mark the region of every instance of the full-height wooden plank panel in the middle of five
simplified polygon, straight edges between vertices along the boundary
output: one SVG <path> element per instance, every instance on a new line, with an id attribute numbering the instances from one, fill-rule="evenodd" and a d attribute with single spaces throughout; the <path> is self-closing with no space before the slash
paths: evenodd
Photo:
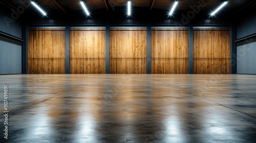
<path id="1" fill-rule="evenodd" d="M 146 74 L 146 29 L 111 28 L 110 74 Z"/>

